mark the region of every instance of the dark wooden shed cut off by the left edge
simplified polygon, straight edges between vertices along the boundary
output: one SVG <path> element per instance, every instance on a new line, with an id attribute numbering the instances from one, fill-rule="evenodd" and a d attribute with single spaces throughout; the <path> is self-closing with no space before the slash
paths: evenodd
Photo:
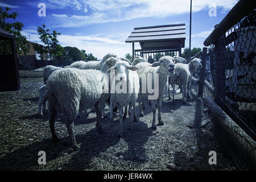
<path id="1" fill-rule="evenodd" d="M 20 89 L 15 37 L 0 28 L 0 92 Z"/>

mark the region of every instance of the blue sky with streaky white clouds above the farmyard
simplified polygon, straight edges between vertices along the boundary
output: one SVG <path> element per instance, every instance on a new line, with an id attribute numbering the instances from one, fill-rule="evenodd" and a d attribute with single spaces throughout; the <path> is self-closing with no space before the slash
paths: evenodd
<path id="1" fill-rule="evenodd" d="M 203 48 L 214 25 L 228 14 L 238 0 L 193 0 L 191 47 Z M 46 16 L 38 11 L 44 3 Z M 134 27 L 185 23 L 185 47 L 189 47 L 189 0 L 0 0 L 18 12 L 16 20 L 24 24 L 22 34 L 31 42 L 41 43 L 36 28 L 46 24 L 56 30 L 60 45 L 85 49 L 98 59 L 113 52 L 125 56 L 132 52 L 125 40 Z M 42 12 L 42 11 L 40 11 Z M 135 43 L 135 49 L 141 48 Z M 183 49 L 182 49 L 183 50 Z"/>

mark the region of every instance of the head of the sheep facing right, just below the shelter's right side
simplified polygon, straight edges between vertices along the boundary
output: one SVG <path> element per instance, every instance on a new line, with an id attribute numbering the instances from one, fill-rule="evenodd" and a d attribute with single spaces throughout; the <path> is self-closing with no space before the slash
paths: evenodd
<path id="1" fill-rule="evenodd" d="M 155 62 L 151 65 L 151 67 L 158 67 L 165 69 L 169 75 L 174 74 L 175 64 L 174 64 L 174 57 L 171 56 L 163 56 L 159 59 L 158 62 Z"/>

